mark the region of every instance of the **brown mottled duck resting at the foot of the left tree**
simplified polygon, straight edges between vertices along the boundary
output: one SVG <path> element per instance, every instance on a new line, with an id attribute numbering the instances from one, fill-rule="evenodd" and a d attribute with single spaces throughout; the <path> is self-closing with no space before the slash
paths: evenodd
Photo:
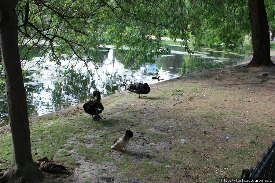
<path id="1" fill-rule="evenodd" d="M 37 161 L 41 162 L 40 169 L 47 171 L 47 172 L 64 172 L 64 173 L 70 173 L 69 170 L 67 170 L 68 167 L 65 167 L 64 165 L 54 161 L 49 160 L 47 157 L 43 157 L 41 159 L 38 159 Z"/>

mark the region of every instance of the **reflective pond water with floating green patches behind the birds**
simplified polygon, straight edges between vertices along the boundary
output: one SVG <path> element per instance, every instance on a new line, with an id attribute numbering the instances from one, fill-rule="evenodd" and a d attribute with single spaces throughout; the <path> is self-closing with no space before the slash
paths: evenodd
<path id="1" fill-rule="evenodd" d="M 173 41 L 166 41 L 171 54 L 156 57 L 156 63 L 146 64 L 135 70 L 125 66 L 123 55 L 119 54 L 112 46 L 100 56 L 101 68 L 93 78 L 87 74 L 83 63 L 78 63 L 77 73 L 68 74 L 67 77 L 60 77 L 71 63 L 68 60 L 61 62 L 61 66 L 51 66 L 49 60 L 45 60 L 44 66 L 48 70 L 40 70 L 35 66 L 29 70 L 29 75 L 24 79 L 29 117 L 40 116 L 46 113 L 59 111 L 69 106 L 84 103 L 92 98 L 92 92 L 99 90 L 101 96 L 112 95 L 124 91 L 130 83 L 142 82 L 153 84 L 165 81 L 174 77 L 199 72 L 213 68 L 213 66 L 228 66 L 245 62 L 251 59 L 248 54 L 240 54 L 224 51 L 221 47 L 215 48 L 190 48 L 194 54 L 190 57 L 185 48 Z M 40 57 L 33 54 L 31 63 L 24 66 L 31 66 L 38 62 Z M 98 58 L 97 58 L 98 59 Z M 64 66 L 64 67 L 63 67 Z M 40 73 L 39 74 L 39 70 Z M 158 72 L 158 74 L 153 74 Z M 151 75 L 151 74 L 152 75 Z M 163 80 L 152 80 L 152 76 L 160 76 Z M 0 127 L 8 124 L 7 105 L 5 99 L 0 99 Z"/>

